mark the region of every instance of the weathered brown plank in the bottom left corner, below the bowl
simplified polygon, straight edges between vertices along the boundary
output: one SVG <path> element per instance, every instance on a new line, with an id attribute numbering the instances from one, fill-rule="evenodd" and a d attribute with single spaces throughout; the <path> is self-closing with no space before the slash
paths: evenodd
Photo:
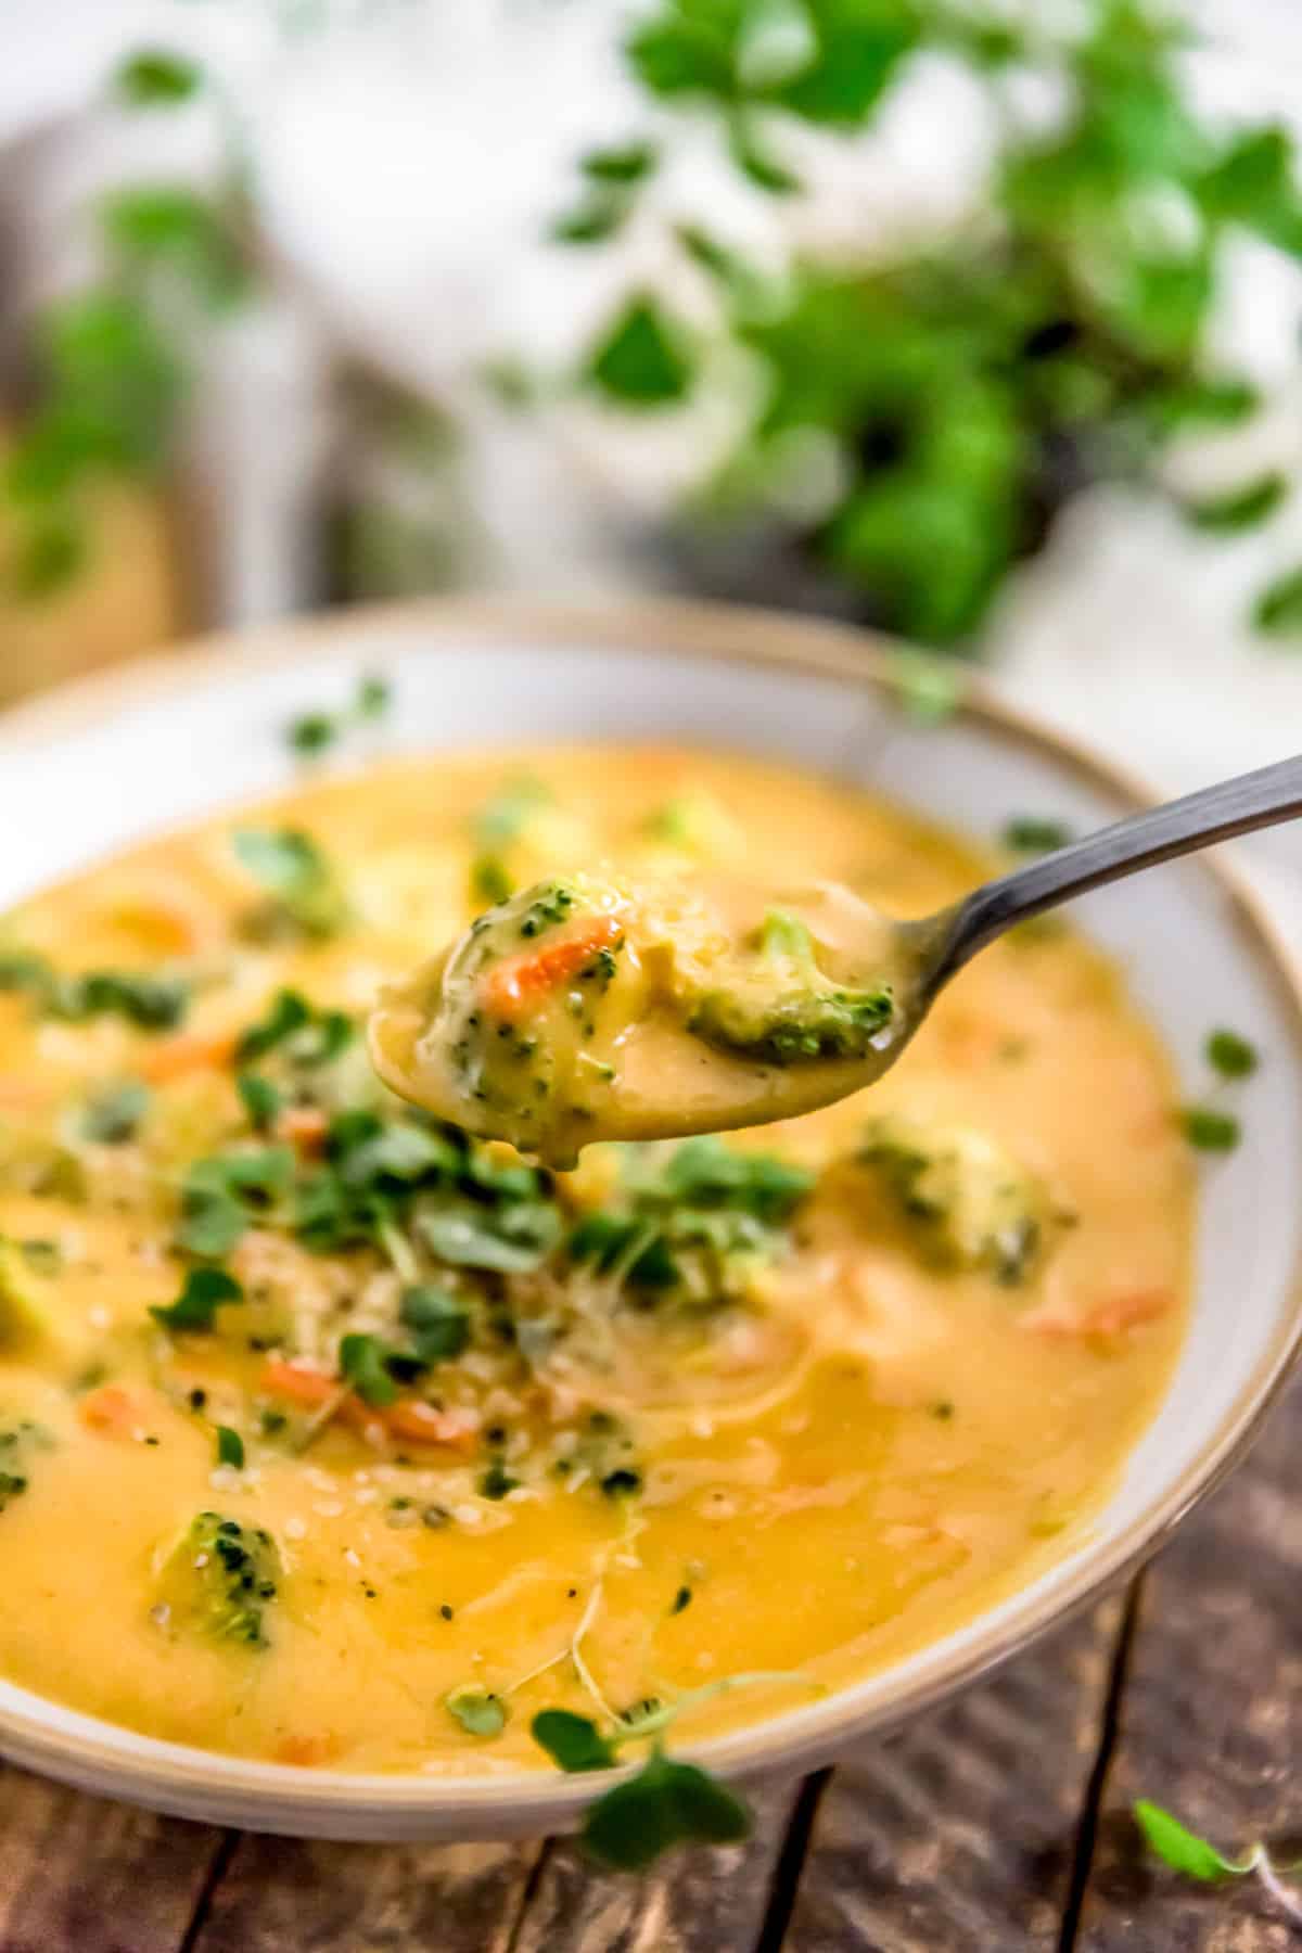
<path id="1" fill-rule="evenodd" d="M 0 1953 L 176 1953 L 223 1838 L 0 1766 Z"/>

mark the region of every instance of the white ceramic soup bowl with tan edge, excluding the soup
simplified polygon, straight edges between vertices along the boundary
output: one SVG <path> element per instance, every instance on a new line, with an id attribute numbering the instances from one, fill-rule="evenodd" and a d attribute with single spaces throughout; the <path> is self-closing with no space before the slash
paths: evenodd
<path id="1" fill-rule="evenodd" d="M 197 644 L 0 721 L 0 904 L 158 828 L 289 783 L 285 723 L 394 689 L 385 750 L 673 740 L 785 760 L 994 838 L 1019 810 L 1074 828 L 1150 795 L 1007 711 L 978 680 L 925 725 L 902 709 L 898 652 L 837 625 L 677 603 L 613 613 L 504 603 L 355 611 Z M 1161 1029 L 1191 1098 L 1202 1043 L 1232 1021 L 1263 1053 L 1241 1088 L 1243 1143 L 1202 1172 L 1189 1332 L 1165 1396 L 1093 1523 L 1017 1592 L 832 1695 L 687 1746 L 748 1781 L 794 1773 L 962 1687 L 1117 1584 L 1249 1441 L 1302 1338 L 1302 1012 L 1288 961 L 1220 857 L 1078 904 Z M 361 1775 L 160 1742 L 0 1682 L 0 1752 L 158 1810 L 303 1836 L 486 1838 L 572 1826 L 591 1781 Z"/>

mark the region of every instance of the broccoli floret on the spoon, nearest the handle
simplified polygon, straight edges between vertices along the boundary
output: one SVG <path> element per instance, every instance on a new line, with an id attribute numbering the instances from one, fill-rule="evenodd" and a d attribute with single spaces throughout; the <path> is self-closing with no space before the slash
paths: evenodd
<path id="1" fill-rule="evenodd" d="M 810 1059 L 865 1059 L 894 1016 L 890 990 L 789 990 L 759 986 L 711 990 L 687 1029 L 740 1059 L 806 1064 Z"/>

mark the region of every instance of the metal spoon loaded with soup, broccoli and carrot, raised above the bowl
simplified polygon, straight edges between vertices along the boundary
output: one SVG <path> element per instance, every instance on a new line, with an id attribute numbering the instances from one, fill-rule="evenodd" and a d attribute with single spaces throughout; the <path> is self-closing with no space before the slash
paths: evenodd
<path id="1" fill-rule="evenodd" d="M 873 1084 L 980 949 L 1046 908 L 1302 812 L 1302 756 L 1130 814 L 894 922 L 834 883 L 527 889 L 387 990 L 394 1092 L 552 1166 L 605 1139 L 765 1125 Z M 775 906 L 777 902 L 777 906 Z"/>

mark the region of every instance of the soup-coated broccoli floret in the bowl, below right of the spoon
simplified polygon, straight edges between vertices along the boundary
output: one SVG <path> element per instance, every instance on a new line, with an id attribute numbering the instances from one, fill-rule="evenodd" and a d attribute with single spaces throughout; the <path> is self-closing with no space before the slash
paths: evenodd
<path id="1" fill-rule="evenodd" d="M 974 1127 L 875 1119 L 855 1158 L 878 1176 L 929 1262 L 988 1269 L 1009 1289 L 1031 1279 L 1064 1219 L 1044 1182 Z"/>

